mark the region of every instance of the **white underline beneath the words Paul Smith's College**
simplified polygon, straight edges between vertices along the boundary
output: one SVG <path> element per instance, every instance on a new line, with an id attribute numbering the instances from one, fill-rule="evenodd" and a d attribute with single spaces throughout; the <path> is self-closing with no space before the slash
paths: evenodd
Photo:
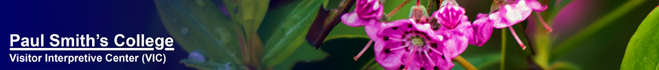
<path id="1" fill-rule="evenodd" d="M 154 48 L 9 48 L 9 51 L 154 51 Z M 174 51 L 174 48 L 165 48 L 165 51 Z"/>

